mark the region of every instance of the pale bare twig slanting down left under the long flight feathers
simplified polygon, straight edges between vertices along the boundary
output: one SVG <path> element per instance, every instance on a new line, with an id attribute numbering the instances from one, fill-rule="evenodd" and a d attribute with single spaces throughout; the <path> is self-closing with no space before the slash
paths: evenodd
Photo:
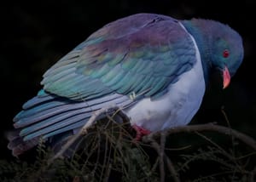
<path id="1" fill-rule="evenodd" d="M 102 107 L 102 109 L 97 110 L 93 113 L 93 115 L 91 115 L 90 119 L 88 120 L 88 122 L 86 122 L 84 124 L 84 127 L 81 128 L 79 130 L 78 134 L 73 135 L 73 137 L 69 140 L 67 140 L 67 143 L 65 145 L 63 145 L 63 147 L 61 148 L 61 151 L 58 151 L 55 156 L 51 157 L 48 161 L 48 164 L 51 164 L 56 158 L 59 158 L 63 155 L 63 153 L 65 151 L 67 151 L 67 149 L 73 145 L 73 143 L 79 139 L 80 136 L 87 134 L 87 129 L 90 128 L 90 126 L 96 122 L 96 120 L 101 117 L 102 115 L 106 115 L 106 113 L 108 113 L 109 111 L 118 111 L 119 107 L 116 105 L 109 105 L 107 107 Z"/>

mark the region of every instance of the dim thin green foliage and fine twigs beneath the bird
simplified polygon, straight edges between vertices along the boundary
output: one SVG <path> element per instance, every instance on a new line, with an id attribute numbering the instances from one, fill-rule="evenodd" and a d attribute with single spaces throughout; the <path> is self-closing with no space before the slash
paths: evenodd
<path id="1" fill-rule="evenodd" d="M 56 159 L 49 164 L 53 151 L 46 148 L 42 140 L 34 162 L 0 161 L 0 181 L 180 179 L 202 182 L 253 181 L 255 178 L 256 151 L 231 135 L 213 132 L 169 134 L 163 160 L 160 160 L 155 145 L 134 141 L 134 137 L 135 132 L 129 123 L 102 120 L 77 140 L 75 147 L 68 151 L 73 153 L 70 157 Z M 159 137 L 154 138 L 161 146 Z M 177 179 L 173 177 L 170 163 Z"/>

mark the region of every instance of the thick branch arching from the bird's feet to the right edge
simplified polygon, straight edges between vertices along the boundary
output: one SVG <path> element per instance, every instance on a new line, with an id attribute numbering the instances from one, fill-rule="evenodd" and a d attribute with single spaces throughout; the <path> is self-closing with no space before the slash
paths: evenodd
<path id="1" fill-rule="evenodd" d="M 170 128 L 166 130 L 166 135 L 169 134 L 177 134 L 177 133 L 193 133 L 193 132 L 201 132 L 201 131 L 213 131 L 218 132 L 220 134 L 228 134 L 240 139 L 243 143 L 251 146 L 254 150 L 256 150 L 256 140 L 247 136 L 246 134 L 242 134 L 241 132 L 236 131 L 232 128 L 227 128 L 224 126 L 218 126 L 213 123 L 207 124 L 199 124 L 199 125 L 188 125 L 183 127 Z M 152 139 L 160 137 L 161 132 L 155 132 L 152 134 L 148 134 L 147 136 L 143 136 L 144 142 L 150 142 Z"/>

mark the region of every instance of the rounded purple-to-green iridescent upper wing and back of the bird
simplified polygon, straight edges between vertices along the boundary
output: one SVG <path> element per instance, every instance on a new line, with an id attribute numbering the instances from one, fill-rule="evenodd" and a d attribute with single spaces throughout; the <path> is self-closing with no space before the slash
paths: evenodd
<path id="1" fill-rule="evenodd" d="M 88 37 L 44 74 L 44 89 L 72 100 L 107 94 L 158 97 L 195 63 L 195 46 L 177 20 L 136 14 Z"/>

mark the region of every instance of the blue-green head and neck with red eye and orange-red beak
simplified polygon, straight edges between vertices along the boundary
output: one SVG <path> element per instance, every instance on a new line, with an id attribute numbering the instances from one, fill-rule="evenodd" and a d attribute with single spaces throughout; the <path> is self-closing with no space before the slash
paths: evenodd
<path id="1" fill-rule="evenodd" d="M 223 88 L 227 88 L 243 60 L 241 36 L 214 20 L 193 19 L 185 25 L 198 44 L 205 75 L 217 69 L 223 77 Z"/>

